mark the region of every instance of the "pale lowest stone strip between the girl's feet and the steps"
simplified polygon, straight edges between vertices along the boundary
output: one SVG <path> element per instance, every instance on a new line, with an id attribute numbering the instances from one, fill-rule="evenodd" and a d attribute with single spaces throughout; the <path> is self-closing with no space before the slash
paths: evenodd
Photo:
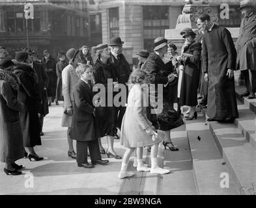
<path id="1" fill-rule="evenodd" d="M 163 175 L 163 195 L 196 195 L 193 165 L 186 127 L 171 130 L 171 141 L 178 151 L 164 150 L 164 166 L 171 174 Z"/>

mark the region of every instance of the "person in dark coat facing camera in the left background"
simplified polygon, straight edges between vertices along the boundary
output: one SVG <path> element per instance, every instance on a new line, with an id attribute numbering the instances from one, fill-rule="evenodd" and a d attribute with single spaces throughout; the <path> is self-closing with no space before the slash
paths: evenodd
<path id="1" fill-rule="evenodd" d="M 48 105 L 51 105 L 53 98 L 55 97 L 56 93 L 56 85 L 57 85 L 57 74 L 56 74 L 56 60 L 51 57 L 50 51 L 48 49 L 44 50 L 44 57 L 42 59 L 42 64 L 46 69 L 46 73 L 49 77 L 49 85 L 47 88 L 47 95 L 48 95 Z"/>

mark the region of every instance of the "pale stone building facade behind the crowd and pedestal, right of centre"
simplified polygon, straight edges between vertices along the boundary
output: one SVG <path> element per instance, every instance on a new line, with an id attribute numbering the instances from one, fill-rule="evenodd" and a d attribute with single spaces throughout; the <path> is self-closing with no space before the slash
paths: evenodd
<path id="1" fill-rule="evenodd" d="M 154 38 L 165 36 L 165 30 L 175 29 L 185 3 L 180 0 L 102 0 L 102 42 L 107 43 L 112 36 L 120 36 L 124 41 L 124 48 L 132 47 L 130 53 L 135 64 L 137 51 L 152 51 Z M 229 5 L 229 19 L 220 18 L 222 3 Z M 211 16 L 218 24 L 240 27 L 240 0 L 209 0 L 208 4 Z"/>

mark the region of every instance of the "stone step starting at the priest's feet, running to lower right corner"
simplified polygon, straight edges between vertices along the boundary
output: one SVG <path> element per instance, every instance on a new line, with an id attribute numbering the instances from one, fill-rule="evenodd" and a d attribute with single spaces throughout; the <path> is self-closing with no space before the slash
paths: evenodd
<path id="1" fill-rule="evenodd" d="M 255 194 L 256 152 L 234 123 L 208 122 L 240 194 Z M 230 175 L 230 176 L 231 176 Z"/>

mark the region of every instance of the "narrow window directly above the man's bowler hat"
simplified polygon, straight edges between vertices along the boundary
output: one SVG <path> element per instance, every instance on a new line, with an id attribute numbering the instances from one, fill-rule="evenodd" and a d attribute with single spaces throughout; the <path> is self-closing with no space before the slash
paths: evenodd
<path id="1" fill-rule="evenodd" d="M 119 36 L 119 8 L 109 8 L 109 38 Z"/>

